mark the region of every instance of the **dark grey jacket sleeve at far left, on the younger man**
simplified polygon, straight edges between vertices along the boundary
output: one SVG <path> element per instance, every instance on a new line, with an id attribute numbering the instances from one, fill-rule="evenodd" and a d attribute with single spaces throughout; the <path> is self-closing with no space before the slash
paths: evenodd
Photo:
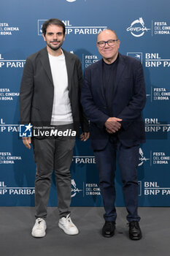
<path id="1" fill-rule="evenodd" d="M 31 102 L 34 92 L 33 67 L 29 59 L 23 69 L 23 78 L 20 84 L 20 123 L 31 122 Z"/>

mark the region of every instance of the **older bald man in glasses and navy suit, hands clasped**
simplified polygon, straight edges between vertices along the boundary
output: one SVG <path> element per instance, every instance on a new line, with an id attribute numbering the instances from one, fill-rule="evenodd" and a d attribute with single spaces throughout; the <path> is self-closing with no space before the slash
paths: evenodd
<path id="1" fill-rule="evenodd" d="M 91 146 L 99 170 L 104 203 L 104 237 L 115 233 L 116 157 L 128 211 L 129 237 L 142 238 L 139 227 L 137 167 L 139 143 L 144 143 L 142 110 L 146 102 L 142 64 L 118 52 L 120 40 L 112 29 L 101 31 L 97 48 L 102 59 L 85 69 L 82 107 L 90 119 Z"/>

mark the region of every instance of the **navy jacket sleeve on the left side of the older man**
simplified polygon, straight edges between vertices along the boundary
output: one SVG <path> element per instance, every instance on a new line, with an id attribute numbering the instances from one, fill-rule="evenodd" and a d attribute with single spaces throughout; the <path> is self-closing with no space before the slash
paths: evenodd
<path id="1" fill-rule="evenodd" d="M 103 129 L 104 124 L 109 118 L 109 116 L 107 116 L 105 113 L 99 110 L 98 107 L 96 107 L 95 102 L 93 101 L 93 94 L 91 91 L 90 69 L 85 69 L 81 102 L 85 114 L 88 116 L 89 120 L 95 123 L 101 129 Z"/>

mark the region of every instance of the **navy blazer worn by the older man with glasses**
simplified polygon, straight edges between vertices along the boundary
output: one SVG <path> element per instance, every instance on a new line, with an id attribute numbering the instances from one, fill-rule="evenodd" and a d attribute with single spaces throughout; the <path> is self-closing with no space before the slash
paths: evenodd
<path id="1" fill-rule="evenodd" d="M 81 96 L 85 115 L 90 120 L 91 146 L 101 150 L 107 145 L 109 133 L 104 124 L 110 116 L 123 119 L 117 138 L 124 146 L 145 142 L 142 109 L 146 102 L 146 91 L 142 64 L 139 60 L 119 53 L 117 75 L 109 105 L 104 95 L 102 82 L 102 59 L 85 69 Z"/>

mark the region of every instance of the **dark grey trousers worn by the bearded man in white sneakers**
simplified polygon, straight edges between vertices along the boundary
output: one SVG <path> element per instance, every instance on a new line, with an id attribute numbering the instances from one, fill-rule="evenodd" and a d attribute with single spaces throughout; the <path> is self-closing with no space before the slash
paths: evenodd
<path id="1" fill-rule="evenodd" d="M 65 126 L 71 129 L 73 125 Z M 58 130 L 63 130 L 59 127 Z M 55 172 L 55 184 L 58 193 L 58 211 L 60 218 L 69 214 L 71 203 L 71 173 L 75 138 L 55 137 L 33 140 L 34 159 L 36 162 L 35 208 L 36 217 L 47 217 L 51 176 Z"/>

